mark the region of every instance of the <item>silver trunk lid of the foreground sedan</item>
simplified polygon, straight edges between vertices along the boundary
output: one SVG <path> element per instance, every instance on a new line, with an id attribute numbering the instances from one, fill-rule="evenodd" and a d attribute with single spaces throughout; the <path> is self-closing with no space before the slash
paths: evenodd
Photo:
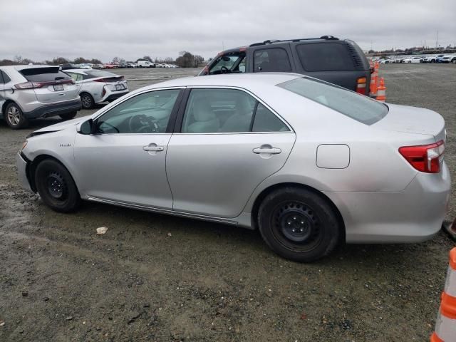
<path id="1" fill-rule="evenodd" d="M 433 110 L 389 103 L 388 108 L 385 118 L 372 127 L 395 132 L 433 135 L 437 141 L 445 139 L 445 120 Z"/>

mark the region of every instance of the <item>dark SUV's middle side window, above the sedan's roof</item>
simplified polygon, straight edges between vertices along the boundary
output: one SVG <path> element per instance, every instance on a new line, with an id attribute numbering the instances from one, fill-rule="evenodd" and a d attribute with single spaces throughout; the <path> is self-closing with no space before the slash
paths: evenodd
<path id="1" fill-rule="evenodd" d="M 284 48 L 261 48 L 254 51 L 254 72 L 291 71 L 290 59 Z"/>

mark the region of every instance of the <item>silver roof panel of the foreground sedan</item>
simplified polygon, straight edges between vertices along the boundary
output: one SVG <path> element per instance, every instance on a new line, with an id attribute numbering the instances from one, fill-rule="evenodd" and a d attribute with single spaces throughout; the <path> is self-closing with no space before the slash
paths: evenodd
<path id="1" fill-rule="evenodd" d="M 253 86 L 254 84 L 275 86 L 276 84 L 304 77 L 298 73 L 232 73 L 202 77 L 185 77 L 155 83 L 142 89 L 191 86 Z"/>

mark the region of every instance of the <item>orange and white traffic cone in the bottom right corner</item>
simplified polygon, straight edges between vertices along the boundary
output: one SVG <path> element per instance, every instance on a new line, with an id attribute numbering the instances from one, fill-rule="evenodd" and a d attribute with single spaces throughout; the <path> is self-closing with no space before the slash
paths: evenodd
<path id="1" fill-rule="evenodd" d="M 456 247 L 450 251 L 445 289 L 430 342 L 456 341 Z"/>

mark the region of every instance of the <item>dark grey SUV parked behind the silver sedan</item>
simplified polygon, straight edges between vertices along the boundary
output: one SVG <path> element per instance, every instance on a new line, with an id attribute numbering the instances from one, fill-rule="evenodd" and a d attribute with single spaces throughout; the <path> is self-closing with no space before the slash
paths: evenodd
<path id="1" fill-rule="evenodd" d="M 369 95 L 371 68 L 361 48 L 333 36 L 264 41 L 222 51 L 198 76 L 219 73 L 301 73 Z"/>

